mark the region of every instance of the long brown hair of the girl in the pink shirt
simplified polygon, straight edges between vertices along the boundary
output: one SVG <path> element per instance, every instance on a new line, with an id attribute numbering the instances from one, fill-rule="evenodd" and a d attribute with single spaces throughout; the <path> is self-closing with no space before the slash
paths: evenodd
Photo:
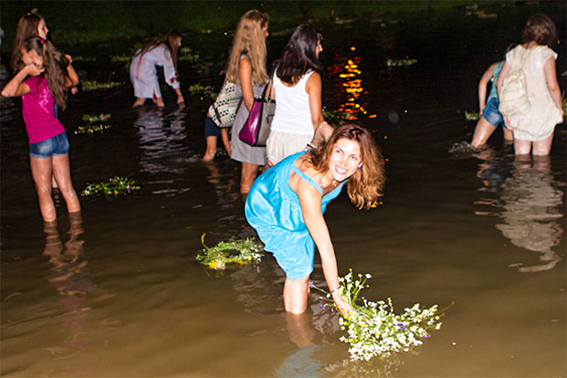
<path id="1" fill-rule="evenodd" d="M 41 75 L 43 75 L 44 79 L 47 79 L 49 91 L 58 107 L 65 110 L 67 106 L 65 77 L 67 76 L 67 66 L 69 64 L 68 59 L 47 39 L 37 36 L 27 37 L 22 48 L 26 52 L 34 50 L 42 58 L 42 67 L 45 68 L 45 71 Z"/>

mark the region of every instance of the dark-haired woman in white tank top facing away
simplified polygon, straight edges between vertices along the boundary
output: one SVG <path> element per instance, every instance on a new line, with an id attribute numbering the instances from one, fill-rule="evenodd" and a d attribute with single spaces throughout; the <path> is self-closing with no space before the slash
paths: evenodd
<path id="1" fill-rule="evenodd" d="M 276 63 L 272 90 L 276 114 L 266 143 L 270 164 L 304 150 L 324 121 L 319 62 L 322 39 L 313 26 L 299 25 Z"/>

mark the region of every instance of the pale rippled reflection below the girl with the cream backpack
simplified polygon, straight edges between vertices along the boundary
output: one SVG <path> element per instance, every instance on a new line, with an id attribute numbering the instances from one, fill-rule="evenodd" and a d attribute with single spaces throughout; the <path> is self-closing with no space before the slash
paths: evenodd
<path id="1" fill-rule="evenodd" d="M 478 175 L 485 184 L 481 190 L 498 193 L 499 198 L 483 199 L 478 204 L 492 205 L 501 211 L 477 214 L 502 217 L 503 222 L 496 228 L 503 236 L 517 247 L 541 253 L 541 264 L 524 267 L 523 263 L 518 263 L 510 267 L 518 268 L 520 272 L 554 268 L 561 261 L 552 247 L 562 240 L 563 229 L 557 219 L 563 216 L 563 192 L 557 188 L 551 174 L 549 156 L 534 158 L 533 162 L 517 158 L 508 178 L 501 162 L 485 161 L 479 167 Z"/>

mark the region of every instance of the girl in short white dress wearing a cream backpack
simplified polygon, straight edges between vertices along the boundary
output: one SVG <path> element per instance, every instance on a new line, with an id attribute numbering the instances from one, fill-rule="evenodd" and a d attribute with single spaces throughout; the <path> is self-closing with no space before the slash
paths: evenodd
<path id="1" fill-rule="evenodd" d="M 555 58 L 557 53 L 546 45 L 555 41 L 556 28 L 545 15 L 531 16 L 522 33 L 522 44 L 506 54 L 497 88 L 513 70 L 522 68 L 530 111 L 505 117 L 506 125 L 514 132 L 514 150 L 517 155 L 549 155 L 555 125 L 562 123 L 562 95 L 557 82 Z"/>

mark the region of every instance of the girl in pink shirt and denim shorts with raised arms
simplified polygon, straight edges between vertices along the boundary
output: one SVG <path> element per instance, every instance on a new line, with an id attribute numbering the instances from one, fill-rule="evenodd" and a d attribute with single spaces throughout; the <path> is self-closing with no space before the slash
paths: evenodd
<path id="1" fill-rule="evenodd" d="M 68 137 L 55 115 L 55 103 L 65 110 L 67 88 L 79 84 L 71 62 L 51 42 L 28 37 L 20 49 L 24 63 L 2 89 L 4 97 L 22 97 L 24 121 L 29 138 L 29 164 L 36 184 L 44 221 L 57 213 L 51 198 L 51 175 L 55 175 L 69 213 L 80 211 L 79 198 L 71 182 Z"/>

